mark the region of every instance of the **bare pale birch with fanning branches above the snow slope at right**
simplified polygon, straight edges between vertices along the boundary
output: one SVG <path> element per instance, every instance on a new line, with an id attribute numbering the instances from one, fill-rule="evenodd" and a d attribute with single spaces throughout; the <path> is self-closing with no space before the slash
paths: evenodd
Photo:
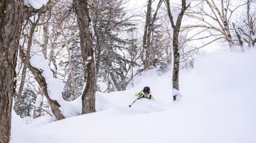
<path id="1" fill-rule="evenodd" d="M 236 26 L 236 24 L 232 24 L 233 22 L 235 22 L 232 22 L 232 16 L 239 8 L 245 6 L 250 2 L 247 1 L 246 3 L 242 3 L 237 6 L 232 6 L 231 0 L 203 0 L 196 2 L 198 2 L 198 4 L 193 9 L 189 9 L 187 15 L 192 18 L 192 21 L 198 20 L 200 24 L 188 24 L 182 26 L 182 28 L 200 28 L 200 33 L 208 31 L 209 36 L 200 38 L 205 39 L 209 37 L 214 37 L 214 39 L 207 44 L 210 44 L 217 40 L 224 40 L 228 43 L 228 46 L 231 50 L 233 50 L 233 48 L 237 45 L 240 45 L 241 47 L 242 41 L 236 44 L 236 39 L 234 38 L 238 36 L 239 39 L 239 31 L 237 30 L 237 28 L 239 27 Z M 232 35 L 232 32 L 234 33 L 234 35 Z"/>

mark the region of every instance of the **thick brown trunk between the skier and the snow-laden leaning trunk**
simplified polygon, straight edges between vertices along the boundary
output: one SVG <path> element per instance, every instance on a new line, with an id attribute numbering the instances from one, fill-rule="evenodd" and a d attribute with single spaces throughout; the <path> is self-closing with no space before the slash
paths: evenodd
<path id="1" fill-rule="evenodd" d="M 75 0 L 74 5 L 77 14 L 77 23 L 80 29 L 80 46 L 83 58 L 84 80 L 86 88 L 82 93 L 82 113 L 95 112 L 96 92 L 96 66 L 95 51 L 92 40 L 91 17 L 89 14 L 88 0 Z"/>

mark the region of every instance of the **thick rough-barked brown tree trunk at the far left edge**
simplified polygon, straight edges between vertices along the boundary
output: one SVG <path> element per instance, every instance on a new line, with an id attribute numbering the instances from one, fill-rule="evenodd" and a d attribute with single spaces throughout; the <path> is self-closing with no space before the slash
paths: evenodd
<path id="1" fill-rule="evenodd" d="M 0 1 L 0 142 L 8 143 L 24 1 Z"/>

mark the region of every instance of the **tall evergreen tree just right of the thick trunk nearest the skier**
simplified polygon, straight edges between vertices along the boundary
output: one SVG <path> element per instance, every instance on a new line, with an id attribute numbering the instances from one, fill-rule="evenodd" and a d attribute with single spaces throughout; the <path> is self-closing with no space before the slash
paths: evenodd
<path id="1" fill-rule="evenodd" d="M 104 0 L 94 5 L 96 9 L 92 19 L 98 81 L 107 84 L 108 92 L 125 90 L 127 73 L 131 69 L 128 50 L 133 40 L 125 36 L 135 30 L 135 24 L 126 17 L 122 1 Z"/>

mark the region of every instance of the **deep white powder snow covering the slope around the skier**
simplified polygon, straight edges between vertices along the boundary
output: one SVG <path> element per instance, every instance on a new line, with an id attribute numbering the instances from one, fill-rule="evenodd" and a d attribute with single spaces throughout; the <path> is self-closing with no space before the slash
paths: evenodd
<path id="1" fill-rule="evenodd" d="M 57 122 L 41 117 L 25 125 L 13 113 L 11 142 L 256 142 L 256 50 L 199 58 L 180 74 L 179 102 L 171 79 L 171 72 L 147 73 L 134 89 L 97 93 L 97 112 Z M 129 108 L 144 86 L 156 101 Z"/>

